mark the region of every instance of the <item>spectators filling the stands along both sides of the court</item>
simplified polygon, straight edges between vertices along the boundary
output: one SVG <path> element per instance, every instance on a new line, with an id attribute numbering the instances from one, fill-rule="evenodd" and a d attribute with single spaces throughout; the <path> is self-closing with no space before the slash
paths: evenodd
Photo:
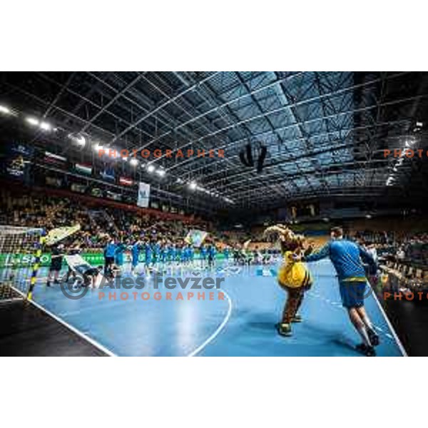
<path id="1" fill-rule="evenodd" d="M 263 235 L 262 226 L 218 231 L 218 228 L 193 218 L 167 220 L 156 213 L 100 207 L 75 198 L 29 191 L 17 195 L 6 188 L 1 189 L 0 198 L 3 207 L 0 224 L 51 230 L 79 223 L 81 230 L 73 235 L 73 245 L 85 250 L 103 251 L 112 239 L 125 245 L 148 241 L 183 246 L 183 239 L 193 228 L 209 231 L 208 243 L 217 245 L 220 250 L 235 250 L 235 258 L 241 262 L 243 254 L 238 254 L 238 250 L 245 241 L 252 240 L 248 245 L 252 260 L 265 260 L 274 246 L 271 238 Z M 428 233 L 362 230 L 350 231 L 349 235 L 372 250 L 376 257 L 422 269 L 428 266 Z"/>

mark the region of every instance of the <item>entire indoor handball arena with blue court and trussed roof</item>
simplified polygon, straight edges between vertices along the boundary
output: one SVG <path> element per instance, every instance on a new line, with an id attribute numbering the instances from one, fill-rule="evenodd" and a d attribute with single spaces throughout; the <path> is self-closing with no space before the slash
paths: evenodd
<path id="1" fill-rule="evenodd" d="M 0 73 L 0 355 L 428 355 L 428 73 Z"/>

